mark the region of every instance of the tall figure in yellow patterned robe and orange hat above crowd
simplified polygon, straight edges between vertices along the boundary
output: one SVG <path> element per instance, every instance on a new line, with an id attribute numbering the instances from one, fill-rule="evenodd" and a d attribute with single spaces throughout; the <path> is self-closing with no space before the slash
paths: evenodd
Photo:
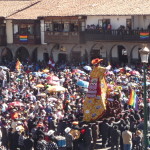
<path id="1" fill-rule="evenodd" d="M 105 81 L 105 72 L 111 66 L 101 67 L 99 64 L 102 60 L 96 58 L 91 62 L 94 67 L 90 73 L 88 92 L 83 104 L 83 120 L 87 122 L 99 119 L 106 111 L 107 84 Z"/>

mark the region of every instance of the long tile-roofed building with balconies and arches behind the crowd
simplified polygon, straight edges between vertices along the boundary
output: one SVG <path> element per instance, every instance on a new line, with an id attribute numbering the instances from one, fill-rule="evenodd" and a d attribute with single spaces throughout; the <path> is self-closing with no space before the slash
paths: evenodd
<path id="1" fill-rule="evenodd" d="M 147 0 L 16 3 L 16 10 L 2 15 L 1 60 L 48 61 L 53 57 L 55 62 L 90 62 L 100 57 L 130 64 L 139 61 L 138 51 L 145 44 L 150 48 Z"/>

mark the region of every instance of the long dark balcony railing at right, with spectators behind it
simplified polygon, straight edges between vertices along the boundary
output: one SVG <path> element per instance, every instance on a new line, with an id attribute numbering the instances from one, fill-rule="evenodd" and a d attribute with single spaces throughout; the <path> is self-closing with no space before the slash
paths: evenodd
<path id="1" fill-rule="evenodd" d="M 140 33 L 148 33 L 148 37 L 142 39 Z M 84 34 L 85 41 L 132 41 L 150 42 L 150 31 L 148 30 L 93 30 L 86 29 Z"/>

